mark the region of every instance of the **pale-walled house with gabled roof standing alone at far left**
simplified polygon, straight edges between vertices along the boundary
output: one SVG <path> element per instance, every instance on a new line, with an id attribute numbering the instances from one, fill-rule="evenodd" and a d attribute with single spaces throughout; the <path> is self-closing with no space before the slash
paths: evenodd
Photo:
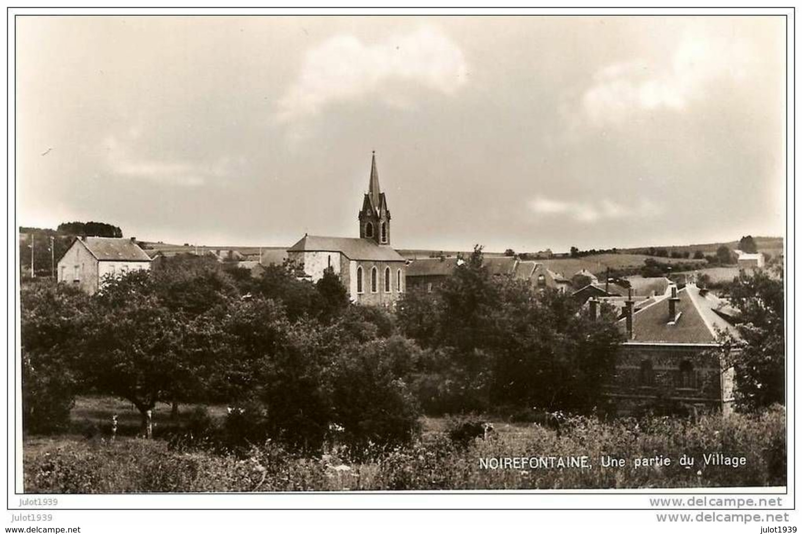
<path id="1" fill-rule="evenodd" d="M 150 268 L 151 258 L 134 237 L 79 237 L 59 260 L 57 277 L 93 294 L 107 277 Z"/>

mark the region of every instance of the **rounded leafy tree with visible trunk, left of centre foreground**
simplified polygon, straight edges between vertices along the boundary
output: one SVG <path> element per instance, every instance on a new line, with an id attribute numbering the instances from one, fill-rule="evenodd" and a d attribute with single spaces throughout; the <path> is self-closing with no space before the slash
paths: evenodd
<path id="1" fill-rule="evenodd" d="M 109 279 L 92 301 L 80 369 L 97 390 L 130 401 L 148 437 L 156 403 L 201 396 L 215 368 L 223 314 L 208 307 L 216 299 L 203 285 L 201 277 L 179 280 L 176 296 L 163 276 L 132 271 Z M 196 295 L 209 303 L 201 306 Z"/>

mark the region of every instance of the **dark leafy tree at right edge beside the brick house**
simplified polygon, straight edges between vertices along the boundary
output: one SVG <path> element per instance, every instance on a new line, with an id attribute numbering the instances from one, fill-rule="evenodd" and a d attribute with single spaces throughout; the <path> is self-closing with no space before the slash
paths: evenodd
<path id="1" fill-rule="evenodd" d="M 735 402 L 744 410 L 785 401 L 784 283 L 765 271 L 741 273 L 730 286 L 740 314 L 737 336 L 720 338 L 735 370 Z"/>

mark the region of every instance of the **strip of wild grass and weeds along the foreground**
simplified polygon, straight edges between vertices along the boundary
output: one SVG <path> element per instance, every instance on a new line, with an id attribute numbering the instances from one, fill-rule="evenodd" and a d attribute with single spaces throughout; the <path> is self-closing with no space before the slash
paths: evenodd
<path id="1" fill-rule="evenodd" d="M 211 407 L 215 419 L 225 407 Z M 184 411 L 185 417 L 187 411 Z M 102 424 L 119 415 L 135 427 L 136 411 L 110 398 L 80 398 L 73 411 L 75 427 Z M 162 429 L 169 407 L 160 406 Z M 783 486 L 785 484 L 785 411 L 775 407 L 760 415 L 713 414 L 697 423 L 653 418 L 599 421 L 575 417 L 561 433 L 537 424 L 493 421 L 488 439 L 467 446 L 448 436 L 448 420 L 421 419 L 422 433 L 405 446 L 375 451 L 371 460 L 354 460 L 347 450 L 302 456 L 277 443 L 252 447 L 241 455 L 214 455 L 205 450 L 171 450 L 164 439 L 119 435 L 103 430 L 28 436 L 23 442 L 26 492 L 266 492 L 411 489 L 544 489 L 624 487 Z M 738 468 L 703 463 L 703 455 L 720 452 L 743 456 Z M 695 458 L 694 467 L 678 464 L 680 455 Z M 626 459 L 623 467 L 602 467 L 602 458 Z M 482 467 L 489 459 L 587 456 L 591 467 Z M 673 463 L 654 463 L 670 458 Z M 638 463 L 641 463 L 638 466 Z"/>

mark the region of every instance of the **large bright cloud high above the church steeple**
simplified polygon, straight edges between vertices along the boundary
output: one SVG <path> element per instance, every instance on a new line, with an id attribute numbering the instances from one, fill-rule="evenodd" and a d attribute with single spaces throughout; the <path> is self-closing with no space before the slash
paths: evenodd
<path id="1" fill-rule="evenodd" d="M 412 83 L 451 95 L 467 74 L 460 48 L 431 26 L 375 44 L 336 35 L 306 53 L 298 79 L 277 104 L 277 118 L 288 122 L 369 95 L 405 106 L 402 86 Z"/>

